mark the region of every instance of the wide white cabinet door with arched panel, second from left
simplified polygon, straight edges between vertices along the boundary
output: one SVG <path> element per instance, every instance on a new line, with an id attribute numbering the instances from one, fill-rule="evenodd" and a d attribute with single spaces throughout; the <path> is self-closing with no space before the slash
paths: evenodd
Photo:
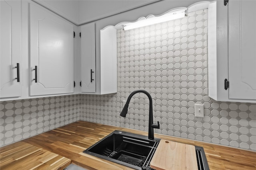
<path id="1" fill-rule="evenodd" d="M 30 96 L 74 92 L 74 27 L 30 4 Z"/>

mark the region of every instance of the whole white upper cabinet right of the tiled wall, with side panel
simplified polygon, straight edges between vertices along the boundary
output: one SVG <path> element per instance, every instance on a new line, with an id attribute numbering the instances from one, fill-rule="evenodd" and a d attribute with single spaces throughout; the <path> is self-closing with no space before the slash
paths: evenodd
<path id="1" fill-rule="evenodd" d="M 208 10 L 208 89 L 217 101 L 256 103 L 256 1 Z"/>

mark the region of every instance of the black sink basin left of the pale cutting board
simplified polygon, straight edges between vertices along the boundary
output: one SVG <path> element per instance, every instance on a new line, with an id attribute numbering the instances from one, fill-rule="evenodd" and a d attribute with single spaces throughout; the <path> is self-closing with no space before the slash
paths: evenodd
<path id="1" fill-rule="evenodd" d="M 114 131 L 84 153 L 116 162 L 137 170 L 150 169 L 160 139 L 149 140 L 147 136 Z"/>

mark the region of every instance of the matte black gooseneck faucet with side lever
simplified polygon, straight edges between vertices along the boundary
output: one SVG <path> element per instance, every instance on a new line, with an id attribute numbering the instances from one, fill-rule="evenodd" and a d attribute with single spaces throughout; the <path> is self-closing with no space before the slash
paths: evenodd
<path id="1" fill-rule="evenodd" d="M 149 99 L 149 121 L 148 121 L 148 139 L 153 140 L 154 139 L 154 128 L 159 129 L 160 125 L 159 125 L 159 121 L 157 121 L 156 123 L 153 123 L 153 104 L 152 104 L 152 97 L 150 96 L 150 94 L 145 91 L 145 90 L 135 90 L 134 92 L 132 92 L 129 96 L 128 99 L 126 101 L 126 104 L 124 105 L 123 110 L 120 113 L 120 116 L 122 117 L 126 117 L 126 114 L 128 112 L 128 106 L 130 103 L 130 100 L 132 98 L 132 96 L 136 93 L 144 93 L 148 96 Z"/>

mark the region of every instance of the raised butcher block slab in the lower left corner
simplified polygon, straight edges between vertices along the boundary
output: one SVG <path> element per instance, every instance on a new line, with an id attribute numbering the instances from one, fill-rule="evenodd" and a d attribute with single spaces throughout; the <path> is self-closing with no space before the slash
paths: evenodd
<path id="1" fill-rule="evenodd" d="M 0 149 L 1 170 L 63 170 L 70 164 L 68 158 L 22 141 Z"/>

